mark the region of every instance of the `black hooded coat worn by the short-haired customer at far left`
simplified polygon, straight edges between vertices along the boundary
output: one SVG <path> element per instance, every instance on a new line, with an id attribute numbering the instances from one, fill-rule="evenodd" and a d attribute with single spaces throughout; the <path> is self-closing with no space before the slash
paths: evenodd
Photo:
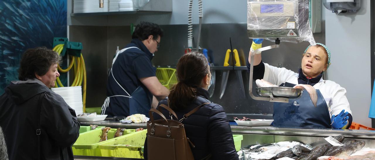
<path id="1" fill-rule="evenodd" d="M 38 159 L 39 155 L 40 159 L 73 159 L 71 146 L 80 134 L 75 111 L 60 95 L 39 82 L 12 82 L 0 96 L 0 126 L 9 160 Z M 42 93 L 45 93 L 43 97 Z M 41 130 L 40 151 L 38 128 Z"/>

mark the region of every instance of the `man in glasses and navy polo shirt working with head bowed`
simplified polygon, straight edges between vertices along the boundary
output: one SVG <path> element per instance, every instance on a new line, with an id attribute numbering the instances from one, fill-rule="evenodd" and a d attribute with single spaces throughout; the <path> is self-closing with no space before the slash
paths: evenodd
<path id="1" fill-rule="evenodd" d="M 159 25 L 141 22 L 136 25 L 131 43 L 116 53 L 108 75 L 107 98 L 102 114 L 108 117 L 145 114 L 169 90 L 156 78 L 151 59 L 159 48 L 163 30 Z"/>

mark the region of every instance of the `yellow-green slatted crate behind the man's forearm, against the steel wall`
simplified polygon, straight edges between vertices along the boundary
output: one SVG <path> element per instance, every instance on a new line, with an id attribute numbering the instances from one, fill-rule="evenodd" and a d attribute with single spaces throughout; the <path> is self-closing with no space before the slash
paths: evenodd
<path id="1" fill-rule="evenodd" d="M 168 89 L 177 83 L 176 69 L 173 68 L 156 68 L 156 77 Z"/>

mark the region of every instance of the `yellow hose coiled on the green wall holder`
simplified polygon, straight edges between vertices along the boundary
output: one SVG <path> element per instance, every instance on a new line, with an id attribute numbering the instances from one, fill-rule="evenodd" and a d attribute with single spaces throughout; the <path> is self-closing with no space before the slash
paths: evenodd
<path id="1" fill-rule="evenodd" d="M 53 48 L 53 50 L 60 55 L 63 48 L 64 48 L 64 44 L 58 44 Z M 59 64 L 57 64 L 57 68 L 58 68 L 58 71 L 62 73 L 68 72 L 69 70 L 74 68 L 74 80 L 71 86 L 72 87 L 82 86 L 82 83 L 83 83 L 83 112 L 85 112 L 86 110 L 86 82 L 87 82 L 85 62 L 83 60 L 82 53 L 80 57 L 75 57 L 75 56 L 70 56 L 70 57 L 72 60 L 68 68 L 62 69 Z M 56 78 L 55 87 L 64 87 L 59 77 Z"/>

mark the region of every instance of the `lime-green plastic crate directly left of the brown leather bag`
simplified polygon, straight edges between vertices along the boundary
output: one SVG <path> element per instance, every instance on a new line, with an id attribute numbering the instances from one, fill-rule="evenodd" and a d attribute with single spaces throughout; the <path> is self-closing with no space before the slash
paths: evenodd
<path id="1" fill-rule="evenodd" d="M 143 159 L 143 146 L 147 129 L 125 136 L 113 138 L 99 144 L 103 157 L 122 157 Z"/>

